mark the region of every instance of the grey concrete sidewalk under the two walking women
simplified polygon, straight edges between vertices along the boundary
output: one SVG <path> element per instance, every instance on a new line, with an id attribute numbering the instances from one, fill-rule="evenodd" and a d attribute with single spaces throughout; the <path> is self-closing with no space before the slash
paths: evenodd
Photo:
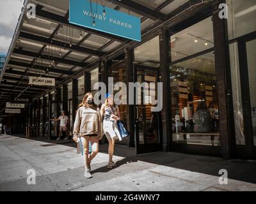
<path id="1" fill-rule="evenodd" d="M 134 156 L 134 149 L 116 146 L 118 166 L 108 170 L 108 145 L 92 162 L 92 179 L 84 179 L 83 157 L 72 142 L 0 136 L 0 191 L 256 191 L 256 163 L 156 152 Z M 28 185 L 27 171 L 36 171 Z M 228 171 L 228 185 L 218 172 Z"/>

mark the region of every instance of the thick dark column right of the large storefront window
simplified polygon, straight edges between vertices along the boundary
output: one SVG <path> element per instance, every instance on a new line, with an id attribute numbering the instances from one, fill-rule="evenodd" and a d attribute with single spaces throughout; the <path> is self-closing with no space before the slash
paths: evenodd
<path id="1" fill-rule="evenodd" d="M 212 3 L 212 23 L 214 31 L 216 80 L 218 85 L 219 113 L 220 113 L 220 145 L 224 159 L 232 156 L 232 139 L 229 122 L 232 116 L 232 86 L 230 80 L 229 50 L 227 36 L 227 20 L 219 17 L 219 4 Z M 234 146 L 233 146 L 234 147 Z"/>

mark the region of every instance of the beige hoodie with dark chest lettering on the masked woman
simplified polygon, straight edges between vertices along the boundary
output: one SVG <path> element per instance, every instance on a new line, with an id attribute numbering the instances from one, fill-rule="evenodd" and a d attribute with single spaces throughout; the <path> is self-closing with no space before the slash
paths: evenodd
<path id="1" fill-rule="evenodd" d="M 74 136 L 98 135 L 102 138 L 102 119 L 100 116 L 100 109 L 97 107 L 86 108 L 80 107 L 76 113 L 74 123 Z"/>

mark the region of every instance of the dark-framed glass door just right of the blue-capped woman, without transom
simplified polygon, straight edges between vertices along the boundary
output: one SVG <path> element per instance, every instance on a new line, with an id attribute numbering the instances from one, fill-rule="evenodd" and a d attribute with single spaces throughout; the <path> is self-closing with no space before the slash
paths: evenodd
<path id="1" fill-rule="evenodd" d="M 154 106 L 152 98 L 157 96 L 158 71 L 150 68 L 136 68 L 136 79 L 141 86 L 143 86 L 143 83 L 148 84 L 148 91 L 146 89 L 143 90 L 144 88 L 138 89 L 135 93 L 138 96 L 134 96 L 134 98 L 137 98 L 135 100 L 137 101 L 135 114 L 136 154 L 161 151 L 161 112 L 152 112 L 151 110 L 152 106 Z M 155 88 L 150 87 L 150 83 L 155 83 Z"/>

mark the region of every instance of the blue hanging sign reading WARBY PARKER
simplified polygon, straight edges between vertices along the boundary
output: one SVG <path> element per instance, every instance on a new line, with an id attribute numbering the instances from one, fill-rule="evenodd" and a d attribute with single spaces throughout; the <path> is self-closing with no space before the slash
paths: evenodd
<path id="1" fill-rule="evenodd" d="M 97 11 L 96 11 L 97 8 Z M 103 15 L 103 11 L 106 15 Z M 95 25 L 93 25 L 93 17 Z M 141 41 L 140 18 L 103 7 L 89 0 L 69 0 L 69 22 L 104 33 Z"/>

